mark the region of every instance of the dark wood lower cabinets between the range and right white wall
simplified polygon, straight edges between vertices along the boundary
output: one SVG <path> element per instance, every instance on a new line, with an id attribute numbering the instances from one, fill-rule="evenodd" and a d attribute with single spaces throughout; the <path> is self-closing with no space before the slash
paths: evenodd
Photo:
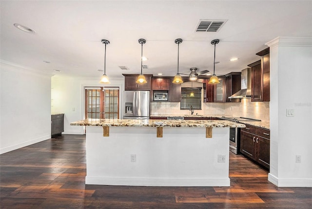
<path id="1" fill-rule="evenodd" d="M 263 137 L 263 134 L 267 138 Z M 246 125 L 240 132 L 240 152 L 270 169 L 270 130 Z"/>

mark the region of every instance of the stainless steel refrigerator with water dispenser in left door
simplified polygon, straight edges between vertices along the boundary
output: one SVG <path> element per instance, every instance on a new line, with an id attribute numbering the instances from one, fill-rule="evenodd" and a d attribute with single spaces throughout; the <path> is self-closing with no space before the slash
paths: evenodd
<path id="1" fill-rule="evenodd" d="M 150 91 L 125 91 L 123 119 L 150 118 Z"/>

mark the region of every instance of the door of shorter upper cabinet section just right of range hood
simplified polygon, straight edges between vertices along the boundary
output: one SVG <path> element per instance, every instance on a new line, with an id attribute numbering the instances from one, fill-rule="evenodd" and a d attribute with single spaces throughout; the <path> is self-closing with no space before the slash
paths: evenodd
<path id="1" fill-rule="evenodd" d="M 252 67 L 252 102 L 261 102 L 261 63 Z"/>

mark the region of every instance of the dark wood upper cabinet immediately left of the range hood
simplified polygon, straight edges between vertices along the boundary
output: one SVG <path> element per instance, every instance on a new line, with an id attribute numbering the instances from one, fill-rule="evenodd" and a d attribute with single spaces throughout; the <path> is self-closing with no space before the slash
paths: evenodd
<path id="1" fill-rule="evenodd" d="M 225 75 L 225 101 L 227 103 L 239 103 L 240 99 L 229 99 L 234 93 L 240 90 L 241 82 L 240 82 L 241 72 L 232 72 Z"/>

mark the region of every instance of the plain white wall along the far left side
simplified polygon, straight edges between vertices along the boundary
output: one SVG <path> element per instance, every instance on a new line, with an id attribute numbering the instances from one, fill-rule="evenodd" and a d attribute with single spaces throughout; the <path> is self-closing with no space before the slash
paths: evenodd
<path id="1" fill-rule="evenodd" d="M 0 64 L 0 153 L 50 139 L 51 75 Z"/>

